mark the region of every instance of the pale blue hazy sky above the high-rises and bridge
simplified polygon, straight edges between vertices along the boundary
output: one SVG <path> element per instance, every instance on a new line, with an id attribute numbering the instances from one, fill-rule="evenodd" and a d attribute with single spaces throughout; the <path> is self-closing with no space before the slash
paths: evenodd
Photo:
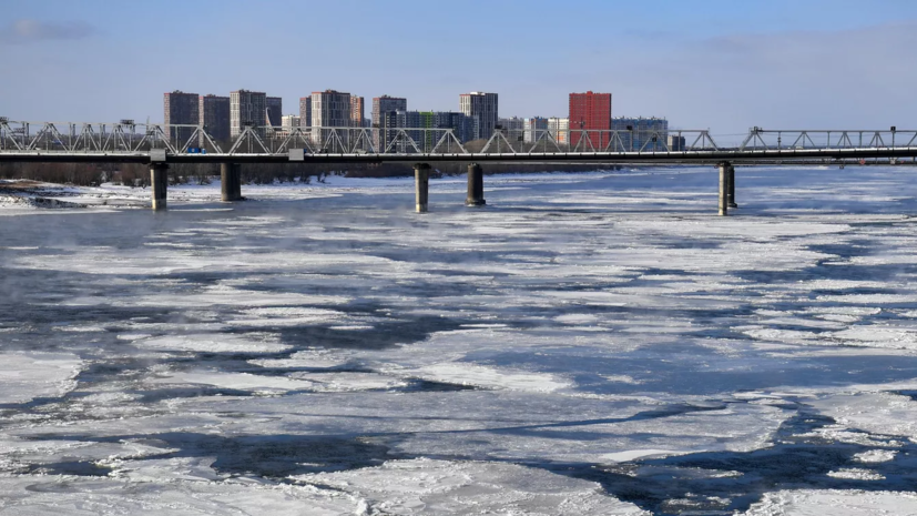
<path id="1" fill-rule="evenodd" d="M 163 120 L 163 93 L 336 89 L 501 117 L 566 117 L 570 92 L 614 117 L 731 135 L 917 129 L 913 0 L 3 1 L 0 117 Z M 369 117 L 369 109 L 367 109 Z"/>

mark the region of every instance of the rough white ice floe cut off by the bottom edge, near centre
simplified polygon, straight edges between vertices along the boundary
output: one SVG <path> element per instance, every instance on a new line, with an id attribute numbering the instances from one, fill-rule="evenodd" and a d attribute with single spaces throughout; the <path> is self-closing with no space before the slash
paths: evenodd
<path id="1" fill-rule="evenodd" d="M 650 515 L 595 483 L 514 464 L 420 458 L 293 479 L 366 499 L 371 514 Z"/>

